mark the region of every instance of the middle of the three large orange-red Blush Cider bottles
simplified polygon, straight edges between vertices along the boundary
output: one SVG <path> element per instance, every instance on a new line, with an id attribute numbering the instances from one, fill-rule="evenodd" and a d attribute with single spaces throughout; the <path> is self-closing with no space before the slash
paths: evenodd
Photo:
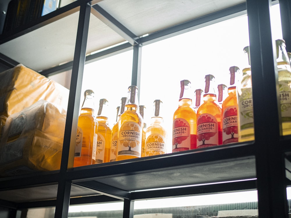
<path id="1" fill-rule="evenodd" d="M 203 103 L 197 110 L 197 148 L 222 144 L 221 108 L 216 103 L 214 76 L 205 76 Z"/>

